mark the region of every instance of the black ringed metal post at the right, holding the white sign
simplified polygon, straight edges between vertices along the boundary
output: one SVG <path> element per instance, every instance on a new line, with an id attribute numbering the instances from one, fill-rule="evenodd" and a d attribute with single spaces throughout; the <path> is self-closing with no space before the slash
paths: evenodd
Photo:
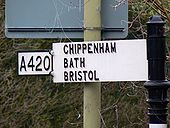
<path id="1" fill-rule="evenodd" d="M 153 16 L 147 22 L 148 79 L 144 83 L 148 90 L 149 128 L 167 128 L 167 90 L 170 82 L 165 76 L 166 35 L 165 21 Z"/>

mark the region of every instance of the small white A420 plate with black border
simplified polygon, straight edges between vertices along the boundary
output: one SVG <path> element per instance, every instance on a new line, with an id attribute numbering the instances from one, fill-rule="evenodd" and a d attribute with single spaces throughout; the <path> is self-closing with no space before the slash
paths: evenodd
<path id="1" fill-rule="evenodd" d="M 50 75 L 52 55 L 49 51 L 19 51 L 18 75 Z"/>

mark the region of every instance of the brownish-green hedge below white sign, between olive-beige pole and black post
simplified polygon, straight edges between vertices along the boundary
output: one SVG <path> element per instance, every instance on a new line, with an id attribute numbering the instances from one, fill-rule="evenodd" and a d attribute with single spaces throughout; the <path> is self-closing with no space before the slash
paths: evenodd
<path id="1" fill-rule="evenodd" d="M 143 83 L 121 82 L 103 85 L 102 115 L 109 128 L 146 127 L 146 103 Z"/>

